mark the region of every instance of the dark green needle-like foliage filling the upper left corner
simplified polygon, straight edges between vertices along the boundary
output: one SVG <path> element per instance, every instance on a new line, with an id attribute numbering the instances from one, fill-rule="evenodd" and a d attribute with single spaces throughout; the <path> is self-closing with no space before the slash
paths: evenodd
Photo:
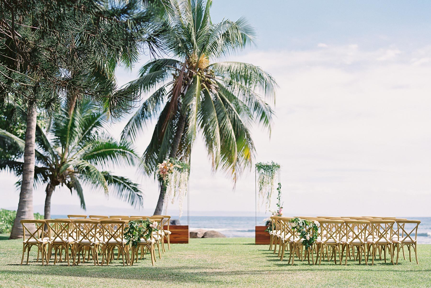
<path id="1" fill-rule="evenodd" d="M 113 71 L 160 49 L 158 10 L 136 0 L 1 1 L 0 95 L 49 112 L 83 97 L 115 116 L 128 111 L 135 97 L 116 91 Z"/>

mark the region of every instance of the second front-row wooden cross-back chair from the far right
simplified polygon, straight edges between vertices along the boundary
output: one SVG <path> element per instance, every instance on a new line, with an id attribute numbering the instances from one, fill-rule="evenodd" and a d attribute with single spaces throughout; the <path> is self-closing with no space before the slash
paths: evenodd
<path id="1" fill-rule="evenodd" d="M 377 255 L 377 249 L 380 251 L 384 251 L 384 262 L 386 263 L 386 249 L 389 250 L 390 254 L 390 262 L 394 264 L 394 254 L 393 254 L 393 245 L 392 245 L 392 237 L 394 234 L 394 220 L 369 220 L 371 235 L 367 237 L 367 262 L 372 252 L 372 265 L 374 265 L 374 259 Z"/>

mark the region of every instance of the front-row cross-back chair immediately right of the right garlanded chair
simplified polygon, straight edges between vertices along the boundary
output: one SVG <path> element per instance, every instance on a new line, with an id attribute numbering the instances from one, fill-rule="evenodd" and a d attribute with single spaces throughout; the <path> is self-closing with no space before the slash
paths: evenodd
<path id="1" fill-rule="evenodd" d="M 337 264 L 337 253 L 341 264 L 341 235 L 343 234 L 342 228 L 344 227 L 344 220 L 325 219 L 318 220 L 320 226 L 320 233 L 316 241 L 316 264 L 319 258 L 319 265 L 322 264 L 323 251 L 325 249 L 332 249 L 334 263 Z M 328 262 L 330 261 L 327 254 Z"/>

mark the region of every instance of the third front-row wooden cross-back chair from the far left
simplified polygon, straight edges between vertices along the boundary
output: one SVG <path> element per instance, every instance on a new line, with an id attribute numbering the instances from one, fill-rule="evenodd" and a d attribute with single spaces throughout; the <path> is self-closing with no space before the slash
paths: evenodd
<path id="1" fill-rule="evenodd" d="M 97 220 L 75 220 L 75 229 L 77 231 L 76 252 L 78 253 L 77 264 L 80 263 L 80 252 L 82 254 L 82 262 L 85 262 L 85 249 L 88 249 L 93 254 L 94 265 L 99 265 L 98 248 L 101 244 L 101 235 L 99 234 L 100 222 Z"/>

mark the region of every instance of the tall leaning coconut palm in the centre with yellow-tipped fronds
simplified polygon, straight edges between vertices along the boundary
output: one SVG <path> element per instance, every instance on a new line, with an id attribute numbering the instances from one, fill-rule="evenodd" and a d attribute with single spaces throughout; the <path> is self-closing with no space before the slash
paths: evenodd
<path id="1" fill-rule="evenodd" d="M 190 161 L 199 130 L 206 142 L 212 168 L 232 175 L 251 166 L 255 152 L 250 125 L 270 130 L 275 80 L 262 68 L 242 62 L 211 62 L 253 44 L 256 33 L 246 19 L 212 23 L 211 0 L 162 1 L 171 26 L 166 43 L 172 58 L 155 59 L 129 83 L 137 93 L 153 92 L 123 130 L 134 138 L 153 118 L 158 118 L 143 160 L 147 173 L 165 158 Z M 166 187 L 154 214 L 160 214 Z"/>

